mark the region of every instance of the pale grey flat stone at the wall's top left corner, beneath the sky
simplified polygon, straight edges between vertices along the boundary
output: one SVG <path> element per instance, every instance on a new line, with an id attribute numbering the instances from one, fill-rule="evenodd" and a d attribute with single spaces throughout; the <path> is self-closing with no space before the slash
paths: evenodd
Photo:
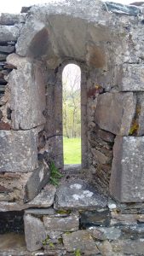
<path id="1" fill-rule="evenodd" d="M 24 23 L 26 21 L 26 15 L 20 14 L 1 14 L 0 24 L 1 25 L 14 25 L 15 23 Z"/>

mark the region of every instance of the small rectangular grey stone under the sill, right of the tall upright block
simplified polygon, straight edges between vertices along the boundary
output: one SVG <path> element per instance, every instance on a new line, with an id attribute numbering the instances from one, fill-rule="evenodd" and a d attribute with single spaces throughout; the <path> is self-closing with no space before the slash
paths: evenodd
<path id="1" fill-rule="evenodd" d="M 46 230 L 54 231 L 76 231 L 79 228 L 78 215 L 71 214 L 66 218 L 43 217 L 43 222 Z"/>

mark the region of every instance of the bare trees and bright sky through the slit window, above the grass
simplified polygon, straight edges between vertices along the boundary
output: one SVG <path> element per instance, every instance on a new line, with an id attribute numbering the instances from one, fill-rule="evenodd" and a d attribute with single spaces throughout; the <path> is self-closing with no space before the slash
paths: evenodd
<path id="1" fill-rule="evenodd" d="M 63 72 L 63 133 L 81 136 L 80 68 L 70 64 Z"/>

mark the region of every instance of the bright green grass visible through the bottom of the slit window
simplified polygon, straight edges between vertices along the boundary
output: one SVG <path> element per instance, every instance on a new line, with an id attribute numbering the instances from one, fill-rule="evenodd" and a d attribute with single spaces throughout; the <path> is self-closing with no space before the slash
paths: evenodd
<path id="1" fill-rule="evenodd" d="M 81 139 L 63 138 L 64 165 L 81 164 Z"/>

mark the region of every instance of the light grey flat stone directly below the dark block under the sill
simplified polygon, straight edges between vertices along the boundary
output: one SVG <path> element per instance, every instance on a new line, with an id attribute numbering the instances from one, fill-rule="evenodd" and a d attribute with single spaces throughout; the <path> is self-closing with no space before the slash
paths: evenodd
<path id="1" fill-rule="evenodd" d="M 121 230 L 115 227 L 90 227 L 88 231 L 98 240 L 118 240 L 121 236 Z"/>

